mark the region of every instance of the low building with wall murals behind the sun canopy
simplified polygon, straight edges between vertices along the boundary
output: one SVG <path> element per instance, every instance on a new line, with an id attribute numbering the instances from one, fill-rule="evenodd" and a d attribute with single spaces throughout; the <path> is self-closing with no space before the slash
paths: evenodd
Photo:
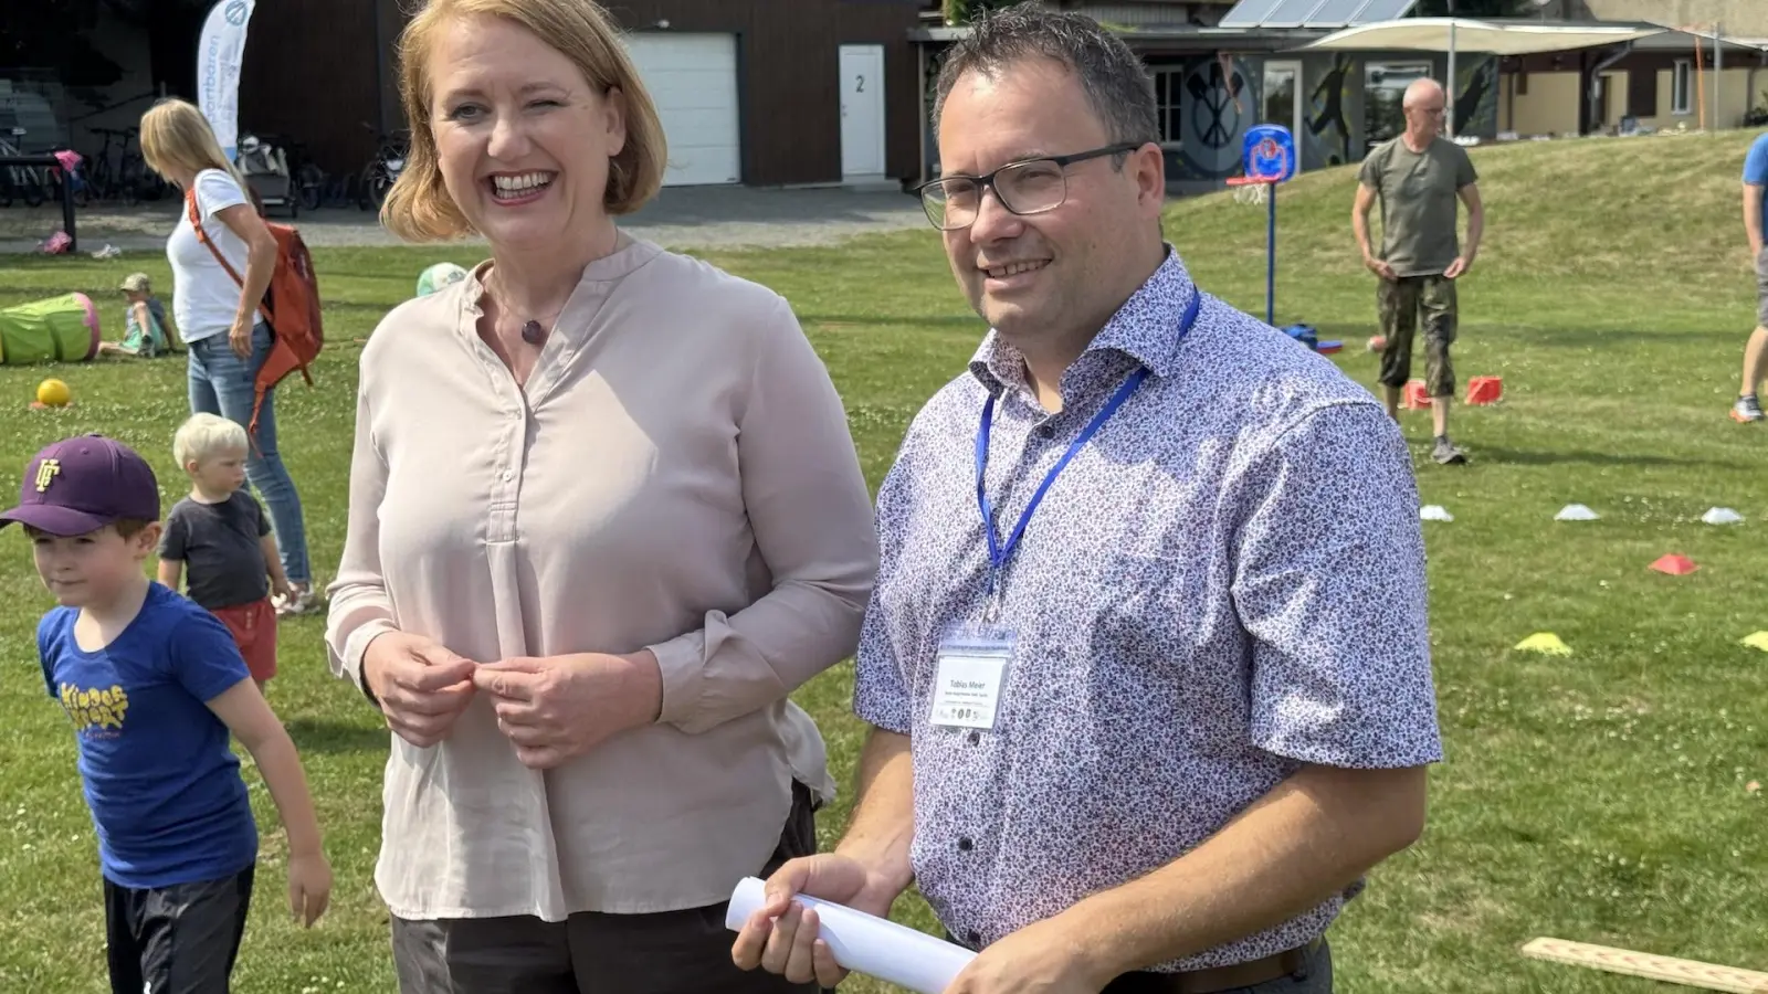
<path id="1" fill-rule="evenodd" d="M 1142 57 L 1158 101 L 1167 186 L 1176 195 L 1218 189 L 1239 175 L 1245 134 L 1255 124 L 1289 127 L 1299 170 L 1358 163 L 1370 147 L 1404 131 L 1406 87 L 1418 78 L 1446 81 L 1450 71 L 1441 51 L 1307 50 L 1330 34 L 1326 28 L 1222 28 L 1218 11 L 1195 4 L 1045 2 L 1112 23 Z M 1627 0 L 1565 2 L 1588 14 L 1582 4 Z M 1729 0 L 1708 0 L 1706 7 L 1703 0 L 1676 2 L 1687 11 L 1729 11 Z M 1749 4 L 1768 11 L 1768 0 Z M 1575 30 L 1581 21 L 1549 23 Z M 942 27 L 916 35 L 928 110 L 942 51 L 960 35 L 962 28 Z M 1740 127 L 1752 110 L 1768 106 L 1764 44 L 1736 39 L 1729 28 L 1715 39 L 1681 27 L 1619 46 L 1520 58 L 1460 51 L 1453 67 L 1453 134 L 1492 141 Z M 923 129 L 921 150 L 923 177 L 937 175 L 932 124 Z"/>

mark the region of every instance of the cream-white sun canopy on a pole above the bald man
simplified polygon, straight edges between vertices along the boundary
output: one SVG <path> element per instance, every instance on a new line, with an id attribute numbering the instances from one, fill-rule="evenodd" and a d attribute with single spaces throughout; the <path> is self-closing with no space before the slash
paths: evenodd
<path id="1" fill-rule="evenodd" d="M 1540 51 L 1625 44 L 1664 34 L 1665 30 L 1669 28 L 1650 25 L 1529 25 L 1517 21 L 1476 21 L 1471 18 L 1402 18 L 1397 21 L 1353 25 L 1301 48 L 1446 51 L 1448 78 L 1453 80 L 1455 53 L 1459 51 L 1535 55 Z M 1448 133 L 1453 136 L 1455 87 L 1450 85 L 1444 90 L 1448 90 Z"/>

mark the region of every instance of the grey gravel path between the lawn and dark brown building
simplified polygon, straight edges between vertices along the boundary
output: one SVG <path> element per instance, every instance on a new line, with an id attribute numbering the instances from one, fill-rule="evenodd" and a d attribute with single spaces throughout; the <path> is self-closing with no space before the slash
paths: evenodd
<path id="1" fill-rule="evenodd" d="M 161 253 L 166 233 L 177 223 L 177 209 L 175 203 L 149 203 L 80 210 L 80 251 L 111 244 L 126 253 Z M 272 219 L 285 218 L 272 212 Z M 366 210 L 318 210 L 302 214 L 295 223 L 313 248 L 401 244 Z M 4 209 L 0 253 L 34 251 L 60 226 L 62 210 L 57 205 Z M 827 246 L 905 228 L 932 233 L 916 198 L 857 189 L 674 187 L 622 219 L 622 226 L 667 248 Z"/>

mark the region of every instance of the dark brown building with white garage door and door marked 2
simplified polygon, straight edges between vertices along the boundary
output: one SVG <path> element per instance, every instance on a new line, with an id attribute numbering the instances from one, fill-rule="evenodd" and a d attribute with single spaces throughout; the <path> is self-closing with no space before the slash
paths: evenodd
<path id="1" fill-rule="evenodd" d="M 608 0 L 670 141 L 667 186 L 873 184 L 918 173 L 923 0 Z M 403 127 L 400 0 L 258 4 L 240 129 L 361 170 Z"/>

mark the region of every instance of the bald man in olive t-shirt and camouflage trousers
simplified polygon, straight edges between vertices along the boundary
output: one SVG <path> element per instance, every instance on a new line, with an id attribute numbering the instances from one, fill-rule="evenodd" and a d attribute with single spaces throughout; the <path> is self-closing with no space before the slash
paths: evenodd
<path id="1" fill-rule="evenodd" d="M 1443 465 L 1466 463 L 1467 455 L 1448 440 L 1448 409 L 1455 398 L 1455 279 L 1480 251 L 1485 210 L 1480 207 L 1473 159 L 1443 138 L 1443 87 L 1414 80 L 1406 87 L 1406 133 L 1374 147 L 1358 175 L 1351 228 L 1363 249 L 1363 265 L 1377 276 L 1381 313 L 1381 386 L 1388 416 L 1398 417 L 1400 394 L 1413 375 L 1413 338 L 1423 325 L 1425 387 L 1436 444 L 1430 458 Z M 1368 209 L 1381 198 L 1381 251 L 1368 242 Z M 1457 198 L 1467 205 L 1467 244 L 1455 237 Z"/>

